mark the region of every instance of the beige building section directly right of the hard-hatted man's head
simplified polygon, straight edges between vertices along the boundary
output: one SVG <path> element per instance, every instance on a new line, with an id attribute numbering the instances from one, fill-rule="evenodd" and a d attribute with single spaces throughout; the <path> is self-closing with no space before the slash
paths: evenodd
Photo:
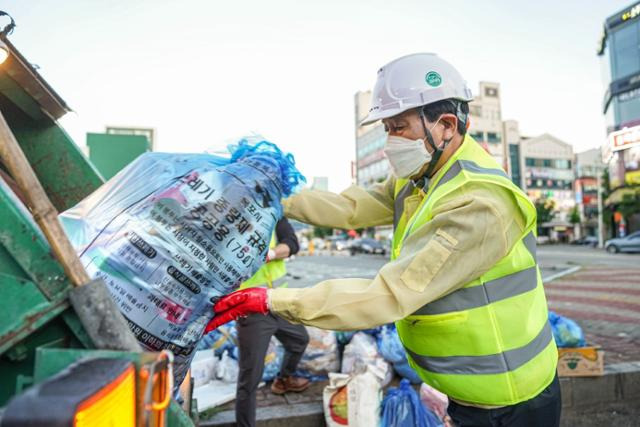
<path id="1" fill-rule="evenodd" d="M 469 103 L 469 135 L 480 143 L 506 169 L 500 84 L 480 82 L 478 94 Z"/>

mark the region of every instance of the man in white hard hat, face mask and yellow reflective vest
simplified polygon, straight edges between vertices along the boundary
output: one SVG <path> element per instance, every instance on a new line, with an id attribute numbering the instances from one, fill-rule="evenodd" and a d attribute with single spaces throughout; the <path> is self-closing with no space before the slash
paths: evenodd
<path id="1" fill-rule="evenodd" d="M 337 330 L 396 322 L 409 363 L 450 397 L 458 426 L 559 425 L 536 210 L 467 134 L 471 100 L 437 55 L 380 68 L 362 124 L 384 124 L 393 176 L 367 190 L 302 191 L 285 214 L 345 229 L 393 224 L 391 261 L 372 280 L 231 294 L 212 323 L 248 312 Z"/>

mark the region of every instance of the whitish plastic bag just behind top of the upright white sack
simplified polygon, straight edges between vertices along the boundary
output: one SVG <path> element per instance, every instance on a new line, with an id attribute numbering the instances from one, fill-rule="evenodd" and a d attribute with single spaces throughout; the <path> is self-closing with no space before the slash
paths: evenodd
<path id="1" fill-rule="evenodd" d="M 384 387 L 393 378 L 393 368 L 378 352 L 376 339 L 364 332 L 358 332 L 344 348 L 342 354 L 343 374 L 356 372 L 358 364 L 365 364 L 379 373 L 381 386 Z"/>

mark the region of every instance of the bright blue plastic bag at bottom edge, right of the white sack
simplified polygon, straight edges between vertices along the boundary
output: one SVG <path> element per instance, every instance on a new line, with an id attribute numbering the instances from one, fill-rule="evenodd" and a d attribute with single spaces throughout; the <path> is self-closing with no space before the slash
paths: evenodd
<path id="1" fill-rule="evenodd" d="M 439 427 L 442 422 L 425 408 L 408 380 L 392 387 L 382 400 L 382 427 Z"/>

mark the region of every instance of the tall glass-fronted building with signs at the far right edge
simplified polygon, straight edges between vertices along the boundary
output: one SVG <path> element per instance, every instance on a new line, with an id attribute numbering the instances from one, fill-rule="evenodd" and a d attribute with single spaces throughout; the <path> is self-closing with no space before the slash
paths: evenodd
<path id="1" fill-rule="evenodd" d="M 605 20 L 598 55 L 602 59 L 608 134 L 602 152 L 611 191 L 605 205 L 615 212 L 626 203 L 625 197 L 640 197 L 640 3 Z M 613 215 L 615 235 L 640 229 L 640 213 L 629 213 L 627 207 L 626 215 Z"/>

